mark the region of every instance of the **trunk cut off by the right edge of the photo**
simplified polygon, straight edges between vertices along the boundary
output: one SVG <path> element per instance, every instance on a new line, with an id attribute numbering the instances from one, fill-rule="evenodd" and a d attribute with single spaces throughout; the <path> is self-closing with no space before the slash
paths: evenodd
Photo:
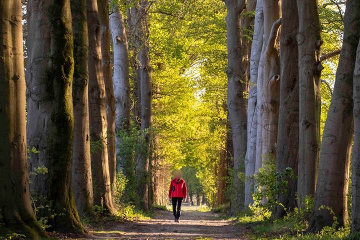
<path id="1" fill-rule="evenodd" d="M 353 74 L 354 142 L 351 159 L 351 233 L 360 232 L 360 40 Z"/>

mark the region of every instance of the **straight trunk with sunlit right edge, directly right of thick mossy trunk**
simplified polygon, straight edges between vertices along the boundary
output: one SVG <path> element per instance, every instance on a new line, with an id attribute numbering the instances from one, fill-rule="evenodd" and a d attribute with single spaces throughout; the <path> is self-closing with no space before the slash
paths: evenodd
<path id="1" fill-rule="evenodd" d="M 72 185 L 78 212 L 92 213 L 92 176 L 90 158 L 90 129 L 88 110 L 88 38 L 86 0 L 71 0 L 74 37 L 74 74 L 72 102 L 74 112 L 74 141 L 72 151 Z"/>

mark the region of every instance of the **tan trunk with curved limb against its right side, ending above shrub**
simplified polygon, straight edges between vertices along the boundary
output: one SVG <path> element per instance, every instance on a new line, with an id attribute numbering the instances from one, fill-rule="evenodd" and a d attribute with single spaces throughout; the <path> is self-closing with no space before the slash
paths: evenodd
<path id="1" fill-rule="evenodd" d="M 262 82 L 262 154 L 276 156 L 277 121 L 280 94 L 278 29 L 281 24 L 279 0 L 263 2 L 264 55 Z"/>

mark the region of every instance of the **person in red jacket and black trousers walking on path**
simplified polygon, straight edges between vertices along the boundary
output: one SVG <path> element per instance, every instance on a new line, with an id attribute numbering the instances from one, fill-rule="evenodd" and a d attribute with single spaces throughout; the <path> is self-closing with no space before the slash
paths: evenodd
<path id="1" fill-rule="evenodd" d="M 172 213 L 175 217 L 175 221 L 179 222 L 181 215 L 181 202 L 186 200 L 186 182 L 182 179 L 182 172 L 180 170 L 175 170 L 173 172 L 173 179 L 170 182 L 169 188 L 169 200 L 171 199 L 172 203 Z M 177 208 L 176 208 L 177 205 Z"/>

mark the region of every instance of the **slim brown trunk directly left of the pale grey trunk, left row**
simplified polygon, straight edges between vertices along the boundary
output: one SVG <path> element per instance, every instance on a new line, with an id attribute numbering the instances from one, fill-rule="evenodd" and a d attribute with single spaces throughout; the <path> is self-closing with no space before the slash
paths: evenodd
<path id="1" fill-rule="evenodd" d="M 112 69 L 110 57 L 110 26 L 108 0 L 97 0 L 101 35 L 101 63 L 105 83 L 106 117 L 107 117 L 107 157 L 111 186 L 116 177 L 116 145 L 115 145 L 115 97 L 112 85 Z"/>

